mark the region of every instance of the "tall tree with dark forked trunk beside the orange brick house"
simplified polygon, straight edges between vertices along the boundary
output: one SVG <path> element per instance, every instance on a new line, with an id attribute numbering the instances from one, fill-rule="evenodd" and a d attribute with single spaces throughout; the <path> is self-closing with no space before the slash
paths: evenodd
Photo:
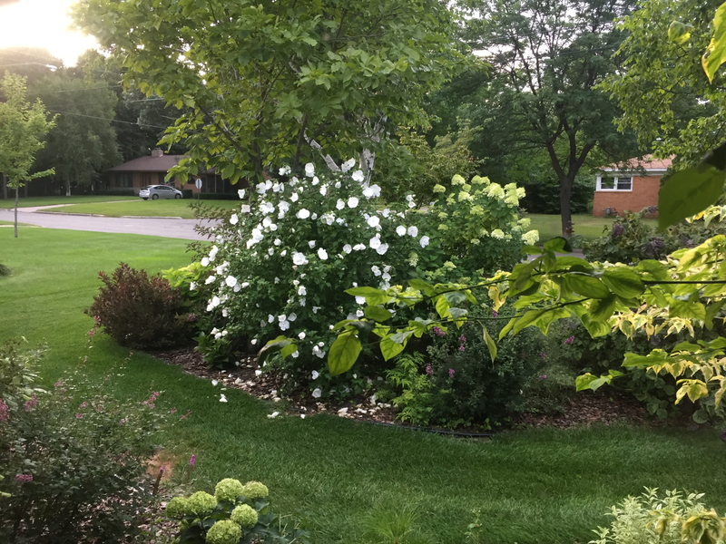
<path id="1" fill-rule="evenodd" d="M 486 149 L 476 154 L 546 151 L 560 184 L 566 236 L 574 178 L 593 151 L 598 160 L 621 160 L 634 151 L 633 141 L 614 130 L 615 104 L 597 88 L 617 69 L 613 53 L 623 33 L 613 19 L 628 11 L 628 0 L 462 4 L 467 42 L 491 64 L 476 100 L 460 112 L 483 128 L 476 139 Z"/>

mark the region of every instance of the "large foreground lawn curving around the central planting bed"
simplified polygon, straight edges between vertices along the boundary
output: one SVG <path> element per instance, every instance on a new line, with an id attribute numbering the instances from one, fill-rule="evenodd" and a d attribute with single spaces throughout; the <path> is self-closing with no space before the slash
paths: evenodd
<path id="1" fill-rule="evenodd" d="M 371 512 L 416 509 L 418 527 L 437 544 L 461 544 L 472 509 L 482 510 L 492 544 L 573 544 L 594 538 L 604 513 L 643 486 L 706 492 L 723 513 L 718 470 L 726 448 L 712 430 L 628 426 L 506 432 L 475 442 L 355 423 L 330 415 L 269 419 L 279 404 L 226 391 L 99 335 L 83 314 L 99 270 L 120 261 L 157 271 L 189 262 L 185 242 L 169 238 L 36 229 L 12 238 L 0 229 L 0 340 L 45 339 L 46 381 L 68 369 L 92 379 L 111 374 L 115 394 L 160 403 L 191 417 L 168 442 L 182 470 L 196 455 L 195 489 L 225 477 L 265 482 L 275 510 L 299 510 L 316 544 L 369 542 Z M 87 361 L 83 363 L 83 359 Z M 125 360 L 125 362 L 124 362 Z M 704 470 L 705 468 L 705 470 Z"/>

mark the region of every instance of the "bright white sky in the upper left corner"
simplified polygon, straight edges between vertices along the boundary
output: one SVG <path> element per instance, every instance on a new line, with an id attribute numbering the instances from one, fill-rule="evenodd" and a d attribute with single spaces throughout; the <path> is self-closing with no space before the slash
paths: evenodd
<path id="1" fill-rule="evenodd" d="M 95 49 L 95 40 L 71 32 L 68 7 L 74 0 L 0 0 L 0 48 L 25 45 L 43 47 L 65 66 L 74 66 L 78 55 Z"/>

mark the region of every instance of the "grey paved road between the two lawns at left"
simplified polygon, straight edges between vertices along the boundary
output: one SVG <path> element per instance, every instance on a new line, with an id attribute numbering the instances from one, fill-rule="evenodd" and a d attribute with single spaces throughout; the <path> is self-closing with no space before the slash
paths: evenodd
<path id="1" fill-rule="evenodd" d="M 13 209 L 0 209 L 0 220 L 12 221 L 14 211 Z M 98 218 L 60 213 L 42 213 L 36 211 L 36 209 L 19 208 L 17 210 L 17 221 L 18 223 L 27 223 L 45 228 L 145 234 L 188 240 L 206 239 L 194 232 L 194 225 L 197 224 L 196 219 Z"/>

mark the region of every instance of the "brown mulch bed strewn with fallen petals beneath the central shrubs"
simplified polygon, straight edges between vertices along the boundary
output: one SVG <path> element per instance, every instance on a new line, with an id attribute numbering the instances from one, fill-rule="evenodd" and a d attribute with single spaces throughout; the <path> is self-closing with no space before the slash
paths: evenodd
<path id="1" fill-rule="evenodd" d="M 317 402 L 307 390 L 299 389 L 290 396 L 281 397 L 278 393 L 282 385 L 282 374 L 260 374 L 256 355 L 244 355 L 240 364 L 233 370 L 209 369 L 201 354 L 191 348 L 179 348 L 153 352 L 152 355 L 168 364 L 182 366 L 184 372 L 195 376 L 217 380 L 220 393 L 225 388 L 240 389 L 260 399 L 272 402 L 284 401 L 288 413 L 306 416 L 314 413 L 334 413 L 340 417 L 374 423 L 397 423 L 396 411 L 388 403 L 371 403 L 365 396 L 358 396 L 346 403 L 326 400 Z M 691 431 L 698 429 L 687 415 L 669 420 L 653 419 L 632 395 L 613 390 L 594 393 L 576 393 L 562 406 L 558 413 L 520 413 L 514 419 L 515 427 L 555 427 L 565 429 L 575 425 L 629 423 L 632 425 L 678 426 Z M 400 424 L 399 424 L 400 425 Z M 400 425 L 402 427 L 406 425 Z M 460 432 L 482 432 L 480 428 L 457 429 Z"/>

